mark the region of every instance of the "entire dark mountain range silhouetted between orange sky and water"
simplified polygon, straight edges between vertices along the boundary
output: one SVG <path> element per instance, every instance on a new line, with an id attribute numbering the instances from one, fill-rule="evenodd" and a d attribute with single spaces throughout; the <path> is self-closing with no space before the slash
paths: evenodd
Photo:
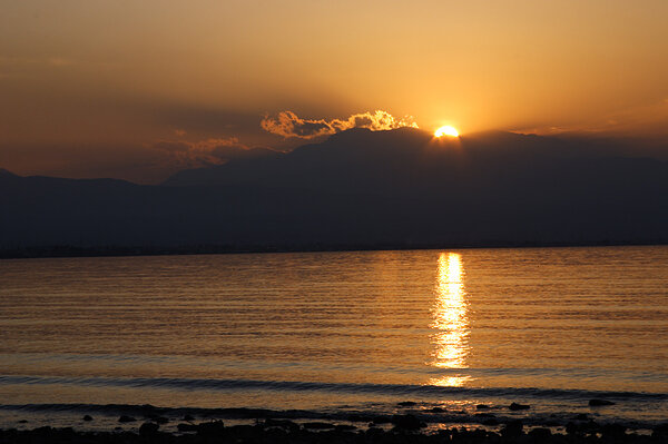
<path id="1" fill-rule="evenodd" d="M 578 139 L 354 129 L 160 186 L 0 171 L 0 248 L 665 243 L 668 162 Z"/>

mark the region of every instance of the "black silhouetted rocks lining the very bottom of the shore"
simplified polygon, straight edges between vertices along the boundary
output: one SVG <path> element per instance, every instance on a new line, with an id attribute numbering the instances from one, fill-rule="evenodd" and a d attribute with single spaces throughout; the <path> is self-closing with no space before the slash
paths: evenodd
<path id="1" fill-rule="evenodd" d="M 195 424 L 184 418 L 177 432 L 160 430 L 164 421 L 154 417 L 141 423 L 137 431 L 81 432 L 72 427 L 49 426 L 35 430 L 1 430 L 0 444 L 9 443 L 668 443 L 668 424 L 656 426 L 650 433 L 629 431 L 620 424 L 569 423 L 566 433 L 553 433 L 548 427 L 525 427 L 522 421 L 511 421 L 495 431 L 484 428 L 444 427 L 428 430 L 416 416 L 394 415 L 386 426 L 369 424 L 358 428 L 333 422 L 304 422 L 265 418 L 255 424 L 226 425 L 223 421 Z M 119 417 L 119 423 L 134 422 Z"/>

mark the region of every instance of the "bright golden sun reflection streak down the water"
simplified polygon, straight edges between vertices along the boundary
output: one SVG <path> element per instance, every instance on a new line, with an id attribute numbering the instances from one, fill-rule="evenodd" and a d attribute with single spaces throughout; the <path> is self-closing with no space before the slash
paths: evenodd
<path id="1" fill-rule="evenodd" d="M 436 330 L 433 365 L 440 368 L 464 368 L 469 356 L 469 315 L 463 284 L 461 255 L 441 253 L 438 263 L 435 300 L 432 308 Z M 431 385 L 462 386 L 470 376 L 443 376 Z"/>

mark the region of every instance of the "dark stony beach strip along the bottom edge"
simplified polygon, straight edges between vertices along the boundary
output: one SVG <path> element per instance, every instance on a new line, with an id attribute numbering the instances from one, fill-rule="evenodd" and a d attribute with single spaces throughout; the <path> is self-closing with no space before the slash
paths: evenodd
<path id="1" fill-rule="evenodd" d="M 153 406 L 137 407 L 137 417 L 121 415 L 114 430 L 86 431 L 76 427 L 0 430 L 0 443 L 665 443 L 668 423 L 654 430 L 635 430 L 623 424 L 599 424 L 583 416 L 566 425 L 525 426 L 521 420 L 507 421 L 494 426 L 481 424 L 425 423 L 411 413 L 392 416 L 351 416 L 303 418 L 299 412 L 269 412 L 253 410 L 219 411 L 218 415 L 233 418 L 229 425 L 222 420 L 198 420 L 189 414 L 171 420 L 166 412 Z M 174 413 L 174 412 L 171 412 Z M 292 417 L 291 420 L 286 417 Z M 488 415 L 487 423 L 493 414 Z M 297 420 L 298 418 L 298 420 Z M 246 420 L 248 423 L 238 424 Z M 321 421 L 316 421 L 321 420 Z M 325 421 L 323 421 L 325 420 Z M 470 420 L 470 418 L 469 418 Z M 86 422 L 94 422 L 85 415 Z M 483 423 L 485 421 L 482 421 Z"/>

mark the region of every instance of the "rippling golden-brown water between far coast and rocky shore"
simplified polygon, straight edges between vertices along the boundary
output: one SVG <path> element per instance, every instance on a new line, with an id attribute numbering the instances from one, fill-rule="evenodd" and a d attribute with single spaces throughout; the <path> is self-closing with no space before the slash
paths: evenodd
<path id="1" fill-rule="evenodd" d="M 668 418 L 668 247 L 3 260 L 0 339 L 0 426 L 104 404 L 400 401 L 652 423 Z"/>

